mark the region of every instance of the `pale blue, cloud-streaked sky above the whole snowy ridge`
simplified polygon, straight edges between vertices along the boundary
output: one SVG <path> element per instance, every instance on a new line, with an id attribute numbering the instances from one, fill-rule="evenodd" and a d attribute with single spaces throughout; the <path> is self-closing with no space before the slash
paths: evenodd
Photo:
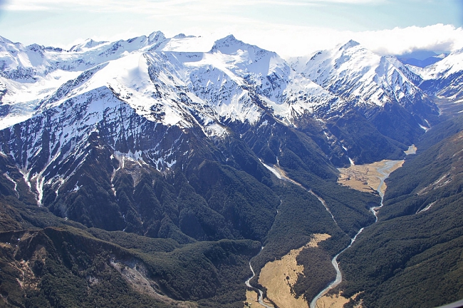
<path id="1" fill-rule="evenodd" d="M 0 36 L 70 47 L 152 31 L 308 54 L 355 39 L 378 53 L 463 48 L 463 0 L 0 0 Z"/>

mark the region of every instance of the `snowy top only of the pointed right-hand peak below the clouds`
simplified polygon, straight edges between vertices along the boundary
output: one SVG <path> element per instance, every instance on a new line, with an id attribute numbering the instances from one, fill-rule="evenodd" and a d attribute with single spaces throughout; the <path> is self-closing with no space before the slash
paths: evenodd
<path id="1" fill-rule="evenodd" d="M 308 61 L 293 61 L 293 68 L 356 108 L 383 107 L 386 103 L 413 104 L 424 98 L 420 76 L 393 56 L 378 56 L 360 43 L 349 41 L 319 51 Z"/>

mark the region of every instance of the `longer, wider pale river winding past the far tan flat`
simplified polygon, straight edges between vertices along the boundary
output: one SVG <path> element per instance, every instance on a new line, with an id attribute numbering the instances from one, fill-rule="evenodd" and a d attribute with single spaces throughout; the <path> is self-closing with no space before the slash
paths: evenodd
<path id="1" fill-rule="evenodd" d="M 373 212 L 373 215 L 375 215 L 375 222 L 378 222 L 378 210 L 383 207 L 383 199 L 384 199 L 384 191 L 383 191 L 383 185 L 384 185 L 384 180 L 390 175 L 390 173 L 387 172 L 387 170 L 390 170 L 390 168 L 392 168 L 396 163 L 399 163 L 400 160 L 390 160 L 388 162 L 385 163 L 385 165 L 381 168 L 378 168 L 378 173 L 380 173 L 380 185 L 378 185 L 378 188 L 376 188 L 376 190 L 378 191 L 380 197 L 381 197 L 381 203 L 380 203 L 380 206 L 379 207 L 371 207 L 370 208 L 370 211 Z M 331 282 L 331 284 L 328 284 L 328 287 L 326 287 L 325 289 L 323 289 L 320 293 L 317 294 L 317 296 L 312 299 L 312 302 L 311 302 L 311 305 L 310 305 L 310 308 L 316 308 L 316 303 L 318 301 L 318 299 L 320 299 L 321 297 L 323 297 L 323 295 L 326 294 L 326 292 L 328 292 L 329 290 L 335 288 L 338 284 L 340 284 L 341 281 L 343 281 L 343 276 L 339 270 L 339 264 L 338 264 L 338 256 L 340 254 L 342 254 L 343 252 L 345 252 L 345 250 L 348 250 L 348 248 L 350 246 L 353 245 L 353 243 L 355 242 L 355 240 L 357 239 L 358 235 L 360 235 L 360 233 L 363 231 L 364 228 L 358 230 L 357 234 L 352 238 L 350 239 L 350 244 L 348 245 L 348 247 L 345 247 L 343 250 L 341 250 L 338 255 L 335 255 L 333 257 L 333 260 L 331 260 L 331 264 L 333 264 L 333 267 L 335 268 L 336 270 L 336 279 Z"/>

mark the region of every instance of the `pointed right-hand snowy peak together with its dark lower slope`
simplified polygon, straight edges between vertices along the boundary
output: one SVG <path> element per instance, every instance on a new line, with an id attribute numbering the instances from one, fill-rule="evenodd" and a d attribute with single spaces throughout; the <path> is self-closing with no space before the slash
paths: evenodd
<path id="1" fill-rule="evenodd" d="M 319 51 L 292 67 L 349 102 L 380 133 L 411 144 L 436 120 L 437 108 L 417 86 L 422 78 L 397 58 L 378 56 L 355 41 Z"/>

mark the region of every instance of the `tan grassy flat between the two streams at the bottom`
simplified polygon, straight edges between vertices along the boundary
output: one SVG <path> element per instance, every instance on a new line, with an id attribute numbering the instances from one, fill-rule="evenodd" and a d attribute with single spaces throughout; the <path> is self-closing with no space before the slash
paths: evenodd
<path id="1" fill-rule="evenodd" d="M 318 243 L 328 239 L 331 235 L 314 234 L 311 241 L 301 248 L 291 250 L 281 260 L 267 263 L 259 274 L 259 284 L 267 289 L 267 297 L 278 307 L 300 308 L 308 307 L 303 297 L 294 297 L 291 287 L 296 284 L 298 274 L 303 274 L 303 265 L 298 265 L 296 258 L 306 247 L 318 247 Z"/>

